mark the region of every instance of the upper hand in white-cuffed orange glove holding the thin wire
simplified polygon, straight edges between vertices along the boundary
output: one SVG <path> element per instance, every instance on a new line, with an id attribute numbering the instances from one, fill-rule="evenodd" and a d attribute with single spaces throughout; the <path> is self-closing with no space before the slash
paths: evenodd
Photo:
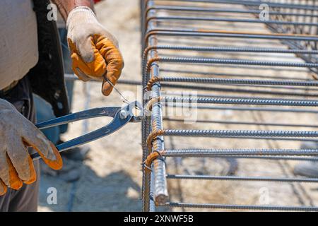
<path id="1" fill-rule="evenodd" d="M 86 6 L 74 8 L 66 26 L 74 73 L 83 81 L 103 81 L 102 93 L 110 95 L 124 67 L 117 40 Z"/>

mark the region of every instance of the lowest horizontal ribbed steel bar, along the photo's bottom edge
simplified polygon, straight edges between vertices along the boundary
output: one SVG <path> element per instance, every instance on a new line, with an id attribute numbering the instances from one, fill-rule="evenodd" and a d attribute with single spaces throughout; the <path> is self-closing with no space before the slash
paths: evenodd
<path id="1" fill-rule="evenodd" d="M 165 203 L 170 208 L 209 208 L 209 209 L 228 209 L 228 210 L 279 210 L 279 211 L 318 211 L 318 206 L 254 206 L 254 205 L 235 205 L 235 204 L 201 204 L 201 203 Z"/>

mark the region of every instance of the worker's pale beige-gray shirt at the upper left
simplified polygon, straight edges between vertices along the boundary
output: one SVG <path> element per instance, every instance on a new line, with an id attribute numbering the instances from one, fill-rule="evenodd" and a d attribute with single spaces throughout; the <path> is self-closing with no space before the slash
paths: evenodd
<path id="1" fill-rule="evenodd" d="M 23 78 L 38 58 L 32 0 L 0 0 L 0 90 Z"/>

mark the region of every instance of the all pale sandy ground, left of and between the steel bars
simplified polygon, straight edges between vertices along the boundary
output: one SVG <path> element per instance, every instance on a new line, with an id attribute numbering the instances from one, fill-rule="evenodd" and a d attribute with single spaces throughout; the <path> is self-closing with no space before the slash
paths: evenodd
<path id="1" fill-rule="evenodd" d="M 122 78 L 141 81 L 141 44 L 139 25 L 139 1 L 138 0 L 107 0 L 98 4 L 97 13 L 102 24 L 112 32 L 119 40 L 125 59 L 125 68 Z M 163 23 L 163 25 L 165 25 Z M 228 24 L 231 27 L 231 24 Z M 201 28 L 205 24 L 201 23 Z M 242 28 L 244 30 L 244 28 Z M 264 29 L 264 28 L 259 28 Z M 166 38 L 167 42 L 171 40 Z M 178 40 L 182 43 L 184 40 Z M 198 43 L 199 40 L 192 40 Z M 165 42 L 165 41 L 163 41 Z M 218 42 L 221 44 L 225 41 Z M 202 44 L 205 42 L 203 41 Z M 246 43 L 245 43 L 246 44 Z M 252 43 L 248 43 L 251 44 Z M 276 43 L 278 44 L 278 43 Z M 239 43 L 237 44 L 239 45 Z M 270 46 L 273 43 L 269 43 Z M 167 52 L 165 54 L 175 54 Z M 188 53 L 189 54 L 189 53 Z M 192 53 L 193 54 L 193 53 Z M 214 56 L 214 55 L 213 55 Z M 218 56 L 218 54 L 215 54 Z M 227 55 L 228 56 L 228 55 Z M 235 54 L 230 57 L 236 57 Z M 262 58 L 256 56 L 254 59 Z M 276 59 L 280 60 L 278 56 Z M 293 61 L 298 61 L 292 57 Z M 163 68 L 165 65 L 163 64 Z M 175 69 L 187 69 L 186 66 L 176 66 Z M 198 67 L 199 71 L 208 72 L 204 66 Z M 213 69 L 213 72 L 225 72 L 226 69 Z M 245 73 L 241 69 L 237 73 Z M 278 75 L 277 71 L 269 71 L 269 75 Z M 286 73 L 287 74 L 287 73 Z M 288 72 L 288 76 L 308 76 L 306 72 Z M 130 85 L 118 85 L 126 95 L 130 92 L 130 100 L 141 100 L 140 87 Z M 117 93 L 110 97 L 102 97 L 100 84 L 90 83 L 90 107 L 102 107 L 110 105 L 122 105 Z M 77 81 L 73 102 L 73 112 L 84 108 L 86 100 L 83 91 L 83 83 Z M 213 112 L 214 119 L 218 120 L 242 120 L 255 121 L 264 118 L 264 121 L 276 121 L 285 123 L 298 123 L 299 119 L 290 114 L 258 114 L 247 112 Z M 211 112 L 202 111 L 200 119 L 211 119 Z M 302 117 L 302 122 L 309 124 L 315 120 L 312 114 Z M 102 121 L 102 120 L 105 120 Z M 89 120 L 89 129 L 97 129 L 106 124 L 107 119 Z M 211 129 L 211 124 L 187 125 L 175 122 L 166 122 L 165 129 Z M 216 127 L 213 127 L 213 129 Z M 233 126 L 218 126 L 218 129 L 233 129 Z M 245 129 L 246 126 L 236 126 L 237 129 Z M 248 129 L 268 129 L 259 126 L 249 126 Z M 82 124 L 71 124 L 64 138 L 69 139 L 81 135 Z M 229 141 L 220 142 L 220 139 L 207 138 L 167 138 L 165 144 L 169 148 L 269 148 L 280 147 L 281 143 L 269 143 L 266 141 Z M 299 147 L 299 142 L 289 143 L 289 148 Z M 288 148 L 283 146 L 284 148 Z M 140 211 L 141 210 L 141 125 L 129 124 L 100 141 L 90 143 L 89 159 L 81 165 L 82 177 L 78 182 L 66 183 L 58 177 L 43 176 L 40 187 L 40 211 Z M 67 162 L 66 162 L 67 164 Z M 178 174 L 224 174 L 228 169 L 228 161 L 223 159 L 169 159 L 167 172 Z M 295 162 L 276 162 L 264 160 L 239 160 L 238 175 L 241 176 L 292 176 L 292 167 Z M 47 203 L 47 189 L 57 189 L 57 205 Z M 315 184 L 277 184 L 267 182 L 216 182 L 216 181 L 169 181 L 170 201 L 187 201 L 193 203 L 236 203 L 236 204 L 264 204 L 262 194 L 269 194 L 268 204 L 273 205 L 318 205 L 318 188 Z M 182 210 L 182 209 L 172 209 Z"/>

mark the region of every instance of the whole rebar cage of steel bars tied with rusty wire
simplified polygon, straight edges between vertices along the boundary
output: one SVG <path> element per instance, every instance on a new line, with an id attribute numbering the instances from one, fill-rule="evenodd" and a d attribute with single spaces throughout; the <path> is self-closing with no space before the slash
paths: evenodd
<path id="1" fill-rule="evenodd" d="M 318 210 L 303 185 L 318 179 L 292 173 L 293 162 L 318 160 L 317 149 L 300 148 L 318 141 L 317 1 L 141 0 L 141 9 L 151 112 L 142 126 L 143 211 Z M 195 118 L 184 119 L 185 109 Z M 168 174 L 172 157 L 238 160 L 250 174 Z M 259 175 L 264 161 L 283 175 L 271 167 Z M 172 201 L 170 180 L 283 182 L 300 205 Z"/>

